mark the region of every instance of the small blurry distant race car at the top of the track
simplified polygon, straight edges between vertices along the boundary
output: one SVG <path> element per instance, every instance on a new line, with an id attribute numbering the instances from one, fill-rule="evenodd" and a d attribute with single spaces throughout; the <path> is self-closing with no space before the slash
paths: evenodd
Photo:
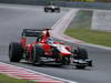
<path id="1" fill-rule="evenodd" d="M 44 6 L 44 12 L 60 12 L 60 8 L 57 6 Z"/>

